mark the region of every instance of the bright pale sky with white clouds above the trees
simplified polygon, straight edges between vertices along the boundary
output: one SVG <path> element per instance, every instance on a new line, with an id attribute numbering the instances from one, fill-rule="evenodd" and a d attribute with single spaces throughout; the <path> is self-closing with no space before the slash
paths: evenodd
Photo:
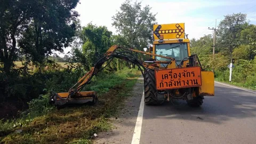
<path id="1" fill-rule="evenodd" d="M 125 0 L 80 0 L 75 10 L 80 14 L 82 26 L 92 22 L 97 26 L 107 26 L 116 34 L 115 27 L 111 25 L 111 17 L 119 11 L 123 2 Z M 185 33 L 189 39 L 212 34 L 213 31 L 208 28 L 215 27 L 215 20 L 218 27 L 218 23 L 227 14 L 246 13 L 247 20 L 256 25 L 256 0 L 142 0 L 141 4 L 142 7 L 151 7 L 158 24 L 185 23 Z M 70 47 L 65 49 L 65 53 L 68 51 Z"/>

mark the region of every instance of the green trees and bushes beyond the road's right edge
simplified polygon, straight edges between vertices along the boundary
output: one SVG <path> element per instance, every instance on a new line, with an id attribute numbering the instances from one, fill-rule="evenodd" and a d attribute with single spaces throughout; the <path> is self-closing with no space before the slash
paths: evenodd
<path id="1" fill-rule="evenodd" d="M 191 53 L 198 54 L 206 70 L 213 70 L 217 81 L 229 82 L 231 59 L 235 59 L 231 83 L 256 89 L 256 26 L 246 21 L 246 14 L 226 15 L 218 26 L 215 57 L 213 35 L 191 39 Z"/>

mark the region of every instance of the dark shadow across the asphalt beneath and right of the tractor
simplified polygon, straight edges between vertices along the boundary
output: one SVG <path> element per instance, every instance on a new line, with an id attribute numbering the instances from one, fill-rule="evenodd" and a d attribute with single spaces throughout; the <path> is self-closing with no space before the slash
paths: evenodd
<path id="1" fill-rule="evenodd" d="M 255 117 L 254 93 L 215 86 L 215 96 L 205 97 L 201 107 L 187 106 L 183 100 L 166 102 L 162 106 L 145 106 L 143 119 L 168 118 L 222 123 L 231 118 Z"/>

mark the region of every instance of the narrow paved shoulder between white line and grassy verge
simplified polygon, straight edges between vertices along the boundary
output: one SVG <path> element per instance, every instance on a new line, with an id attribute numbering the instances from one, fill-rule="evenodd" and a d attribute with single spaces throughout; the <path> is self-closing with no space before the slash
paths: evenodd
<path id="1" fill-rule="evenodd" d="M 121 110 L 118 115 L 111 118 L 114 129 L 98 133 L 94 143 L 131 143 L 142 93 L 143 77 L 139 77 L 132 89 L 131 97 L 127 98 L 125 105 L 119 108 Z"/>

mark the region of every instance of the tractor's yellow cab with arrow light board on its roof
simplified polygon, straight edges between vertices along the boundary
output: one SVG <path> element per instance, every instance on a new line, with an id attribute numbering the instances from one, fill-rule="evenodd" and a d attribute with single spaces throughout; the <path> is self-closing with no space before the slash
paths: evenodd
<path id="1" fill-rule="evenodd" d="M 154 25 L 153 53 L 175 59 L 172 68 L 183 65 L 183 61 L 190 56 L 189 39 L 185 39 L 185 24 L 174 23 Z M 170 61 L 165 58 L 153 57 L 156 61 Z M 159 65 L 167 66 L 166 64 Z"/>

